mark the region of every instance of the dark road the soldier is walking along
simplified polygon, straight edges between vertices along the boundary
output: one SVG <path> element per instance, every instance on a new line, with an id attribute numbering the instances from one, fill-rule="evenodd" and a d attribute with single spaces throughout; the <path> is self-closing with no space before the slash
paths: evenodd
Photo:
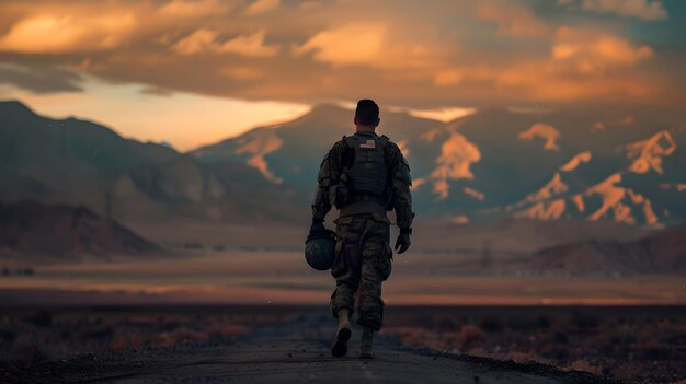
<path id="1" fill-rule="evenodd" d="M 377 358 L 330 356 L 332 318 L 320 307 L 297 321 L 236 339 L 171 348 L 107 352 L 0 373 L 0 381 L 55 383 L 603 383 L 584 372 L 517 364 L 399 346 L 379 338 Z"/>

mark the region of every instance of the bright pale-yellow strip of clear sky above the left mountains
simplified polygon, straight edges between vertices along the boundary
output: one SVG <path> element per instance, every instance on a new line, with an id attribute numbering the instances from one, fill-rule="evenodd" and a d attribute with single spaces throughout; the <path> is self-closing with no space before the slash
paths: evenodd
<path id="1" fill-rule="evenodd" d="M 142 141 L 171 142 L 191 150 L 242 133 L 255 126 L 293 119 L 307 105 L 244 102 L 176 92 L 158 95 L 141 85 L 114 85 L 92 78 L 84 92 L 32 94 L 0 84 L 0 100 L 19 98 L 39 114 L 55 118 L 76 115 Z"/>

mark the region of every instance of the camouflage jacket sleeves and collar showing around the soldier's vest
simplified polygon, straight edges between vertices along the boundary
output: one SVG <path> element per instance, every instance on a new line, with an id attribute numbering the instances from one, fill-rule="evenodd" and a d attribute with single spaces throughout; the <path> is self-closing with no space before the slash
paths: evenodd
<path id="1" fill-rule="evenodd" d="M 376 133 L 356 133 L 356 135 L 376 135 Z M 342 139 L 333 144 L 333 148 L 327 153 L 321 163 L 318 175 L 318 186 L 312 203 L 312 217 L 316 220 L 323 220 L 331 210 L 331 188 L 339 184 L 341 174 L 343 173 L 342 158 L 346 149 L 345 140 Z M 389 181 L 393 195 L 392 208 L 396 211 L 398 226 L 401 229 L 411 228 L 414 213 L 412 212 L 412 196 L 410 186 L 412 179 L 410 177 L 410 165 L 402 155 L 400 148 L 392 141 L 388 141 L 386 146 L 387 167 L 389 172 Z"/>

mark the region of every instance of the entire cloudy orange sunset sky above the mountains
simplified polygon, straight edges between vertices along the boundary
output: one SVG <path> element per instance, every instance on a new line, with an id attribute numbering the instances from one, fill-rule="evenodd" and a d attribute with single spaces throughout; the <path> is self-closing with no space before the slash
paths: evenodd
<path id="1" fill-rule="evenodd" d="M 180 150 L 317 103 L 686 107 L 681 0 L 0 1 L 0 100 Z"/>

